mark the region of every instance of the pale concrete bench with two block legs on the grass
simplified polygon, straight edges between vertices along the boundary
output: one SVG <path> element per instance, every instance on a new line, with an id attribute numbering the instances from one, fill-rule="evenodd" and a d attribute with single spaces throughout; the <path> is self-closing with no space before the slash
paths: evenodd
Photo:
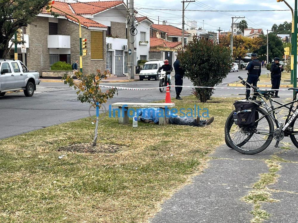
<path id="1" fill-rule="evenodd" d="M 128 108 L 161 108 L 163 110 L 163 114 L 165 114 L 165 107 L 173 108 L 175 106 L 174 103 L 113 103 L 112 107 L 119 108 L 122 112 L 122 107 L 125 108 L 123 111 L 123 115 L 120 114 L 119 124 L 128 124 Z M 159 117 L 159 125 L 166 125 L 169 123 L 169 119 L 167 117 Z"/>

